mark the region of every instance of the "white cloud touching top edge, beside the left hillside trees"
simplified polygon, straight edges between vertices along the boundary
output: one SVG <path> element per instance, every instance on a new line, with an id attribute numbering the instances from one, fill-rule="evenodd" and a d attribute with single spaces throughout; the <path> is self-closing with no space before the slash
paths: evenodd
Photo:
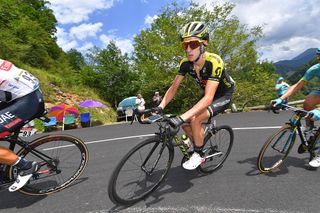
<path id="1" fill-rule="evenodd" d="M 117 0 L 49 0 L 60 24 L 80 23 L 96 10 L 109 9 Z"/>

